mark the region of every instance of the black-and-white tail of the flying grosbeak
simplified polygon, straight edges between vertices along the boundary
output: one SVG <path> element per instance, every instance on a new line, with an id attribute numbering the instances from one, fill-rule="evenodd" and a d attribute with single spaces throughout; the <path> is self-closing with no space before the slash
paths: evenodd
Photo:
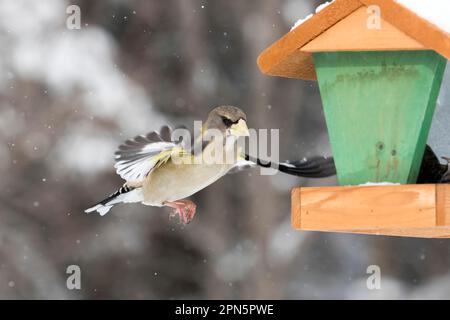
<path id="1" fill-rule="evenodd" d="M 90 213 L 97 211 L 101 216 L 104 216 L 116 204 L 141 202 L 142 200 L 142 188 L 132 188 L 124 185 L 95 206 L 84 210 L 84 212 Z"/>

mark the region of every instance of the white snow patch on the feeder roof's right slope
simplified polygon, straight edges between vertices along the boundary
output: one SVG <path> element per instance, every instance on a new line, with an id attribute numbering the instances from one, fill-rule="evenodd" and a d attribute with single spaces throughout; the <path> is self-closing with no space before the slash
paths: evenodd
<path id="1" fill-rule="evenodd" d="M 450 33 L 449 0 L 396 0 L 396 2 L 428 20 L 439 29 Z"/>

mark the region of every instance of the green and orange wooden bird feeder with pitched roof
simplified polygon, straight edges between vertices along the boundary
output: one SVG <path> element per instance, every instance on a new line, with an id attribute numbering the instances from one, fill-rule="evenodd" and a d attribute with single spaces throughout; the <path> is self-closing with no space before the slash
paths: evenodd
<path id="1" fill-rule="evenodd" d="M 333 1 L 258 58 L 320 89 L 340 186 L 295 188 L 296 229 L 450 237 L 450 187 L 414 184 L 450 34 L 399 2 Z"/>

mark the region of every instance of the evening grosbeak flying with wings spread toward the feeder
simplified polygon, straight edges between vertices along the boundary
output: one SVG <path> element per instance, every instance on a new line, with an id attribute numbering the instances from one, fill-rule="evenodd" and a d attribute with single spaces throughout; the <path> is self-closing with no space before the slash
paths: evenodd
<path id="1" fill-rule="evenodd" d="M 220 138 L 204 141 L 210 132 Z M 235 169 L 262 166 L 303 177 L 327 177 L 335 174 L 333 159 L 316 157 L 293 163 L 263 162 L 245 154 L 238 147 L 239 137 L 249 136 L 245 113 L 233 106 L 213 109 L 200 135 L 194 139 L 193 150 L 186 141 L 172 140 L 172 132 L 164 126 L 160 132 L 150 132 L 127 140 L 115 155 L 115 168 L 126 182 L 116 192 L 85 212 L 105 215 L 119 203 L 139 202 L 148 206 L 170 207 L 183 224 L 195 215 L 196 205 L 186 199 Z M 196 150 L 199 150 L 196 152 Z M 227 161 L 205 163 L 205 154 L 219 152 Z M 200 161 L 197 161 L 200 160 Z"/>

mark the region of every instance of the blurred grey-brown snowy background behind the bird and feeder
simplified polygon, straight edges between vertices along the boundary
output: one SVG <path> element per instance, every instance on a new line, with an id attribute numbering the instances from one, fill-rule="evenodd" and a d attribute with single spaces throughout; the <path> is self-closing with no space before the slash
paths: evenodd
<path id="1" fill-rule="evenodd" d="M 333 178 L 227 176 L 195 196 L 186 228 L 140 205 L 83 213 L 121 184 L 122 140 L 220 104 L 280 128 L 282 159 L 329 155 L 316 83 L 255 62 L 320 2 L 0 0 L 0 298 L 449 298 L 449 240 L 291 229 L 291 187 Z M 66 28 L 69 4 L 80 30 Z M 447 72 L 441 155 L 449 90 Z M 71 264 L 81 290 L 66 288 Z M 371 264 L 381 290 L 366 288 Z"/>

